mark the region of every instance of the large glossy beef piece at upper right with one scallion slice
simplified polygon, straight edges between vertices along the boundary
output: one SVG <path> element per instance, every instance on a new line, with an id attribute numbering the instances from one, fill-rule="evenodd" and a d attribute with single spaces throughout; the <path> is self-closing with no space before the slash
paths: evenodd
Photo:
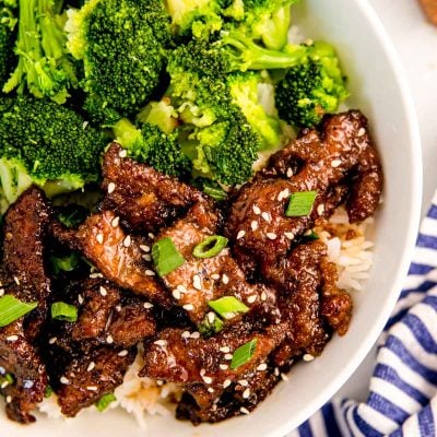
<path id="1" fill-rule="evenodd" d="M 347 186 L 352 188 L 346 190 Z M 290 194 L 309 190 L 318 192 L 311 214 L 285 216 Z M 374 214 L 381 190 L 382 172 L 367 119 L 356 110 L 327 116 L 320 132 L 304 130 L 243 187 L 226 235 L 235 241 L 239 261 L 255 258 L 269 276 L 271 265 L 285 257 L 295 238 L 319 216 L 329 216 L 346 194 L 350 220 L 358 222 Z"/>

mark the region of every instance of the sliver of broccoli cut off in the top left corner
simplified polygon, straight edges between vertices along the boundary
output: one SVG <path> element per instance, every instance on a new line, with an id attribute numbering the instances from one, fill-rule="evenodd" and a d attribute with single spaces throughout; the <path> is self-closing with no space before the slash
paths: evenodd
<path id="1" fill-rule="evenodd" d="M 15 55 L 13 52 L 17 19 L 14 0 L 0 1 L 0 88 L 13 71 Z"/>

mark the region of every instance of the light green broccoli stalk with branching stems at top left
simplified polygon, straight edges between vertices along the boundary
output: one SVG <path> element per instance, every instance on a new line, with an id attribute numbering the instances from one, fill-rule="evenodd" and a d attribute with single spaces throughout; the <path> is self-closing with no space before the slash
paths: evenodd
<path id="1" fill-rule="evenodd" d="M 63 104 L 69 87 L 76 85 L 74 66 L 67 51 L 60 15 L 63 0 L 20 0 L 17 66 L 3 86 L 4 93 L 25 88 L 36 97 Z"/>

